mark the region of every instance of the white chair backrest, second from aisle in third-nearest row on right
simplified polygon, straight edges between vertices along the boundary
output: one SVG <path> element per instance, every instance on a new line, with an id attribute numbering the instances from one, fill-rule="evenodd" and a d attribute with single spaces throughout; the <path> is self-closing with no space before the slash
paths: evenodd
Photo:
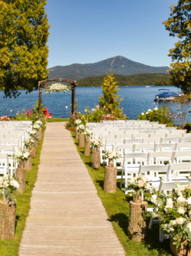
<path id="1" fill-rule="evenodd" d="M 164 162 L 171 163 L 173 151 L 155 151 L 149 152 L 148 164 L 164 164 Z"/>

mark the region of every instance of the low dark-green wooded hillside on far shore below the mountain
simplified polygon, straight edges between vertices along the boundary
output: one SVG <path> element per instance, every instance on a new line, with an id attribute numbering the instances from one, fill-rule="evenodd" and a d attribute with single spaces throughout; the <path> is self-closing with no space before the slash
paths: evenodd
<path id="1" fill-rule="evenodd" d="M 77 86 L 100 86 L 104 81 L 104 75 L 86 77 L 77 81 Z M 170 85 L 169 74 L 138 74 L 138 75 L 115 75 L 118 86 L 131 85 Z"/>

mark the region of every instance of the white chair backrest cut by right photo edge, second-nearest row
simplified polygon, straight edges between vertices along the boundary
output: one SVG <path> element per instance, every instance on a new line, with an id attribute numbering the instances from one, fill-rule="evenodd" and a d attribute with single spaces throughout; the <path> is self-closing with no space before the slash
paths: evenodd
<path id="1" fill-rule="evenodd" d="M 191 163 L 173 163 L 169 165 L 167 178 L 169 181 L 181 180 L 185 177 L 191 176 Z"/>

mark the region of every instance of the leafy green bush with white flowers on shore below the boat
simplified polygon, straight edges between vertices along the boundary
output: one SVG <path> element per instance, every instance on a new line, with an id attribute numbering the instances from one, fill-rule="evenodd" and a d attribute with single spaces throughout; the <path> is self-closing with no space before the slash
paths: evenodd
<path id="1" fill-rule="evenodd" d="M 148 109 L 147 111 L 140 113 L 137 119 L 159 122 L 159 124 L 167 124 L 169 127 L 173 126 L 171 112 L 168 107 L 155 107 L 152 110 Z"/>

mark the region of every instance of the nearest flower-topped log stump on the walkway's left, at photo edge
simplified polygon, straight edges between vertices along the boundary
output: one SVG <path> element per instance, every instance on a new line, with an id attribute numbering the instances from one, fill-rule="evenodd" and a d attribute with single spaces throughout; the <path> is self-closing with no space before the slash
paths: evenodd
<path id="1" fill-rule="evenodd" d="M 0 200 L 0 239 L 12 239 L 15 235 L 16 203 L 12 194 L 18 188 L 18 182 L 13 178 L 0 177 L 0 191 L 3 192 L 3 200 Z"/>

